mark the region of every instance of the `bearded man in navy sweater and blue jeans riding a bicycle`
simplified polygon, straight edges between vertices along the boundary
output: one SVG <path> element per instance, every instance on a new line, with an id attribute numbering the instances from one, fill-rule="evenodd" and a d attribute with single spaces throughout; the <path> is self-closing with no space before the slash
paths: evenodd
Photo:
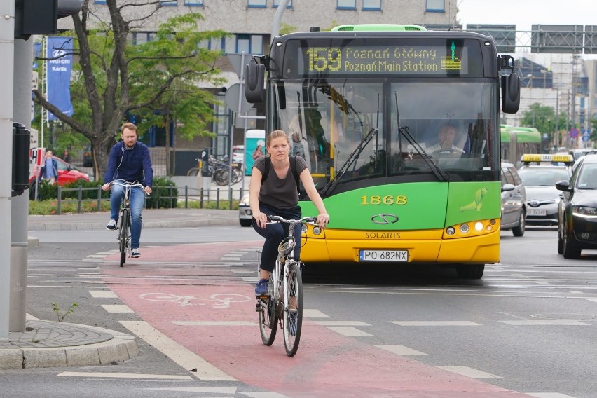
<path id="1" fill-rule="evenodd" d="M 102 190 L 111 190 L 110 195 L 110 222 L 106 226 L 108 231 L 116 230 L 118 212 L 123 200 L 124 187 L 112 185 L 112 181 L 138 181 L 143 189 L 133 187 L 130 191 L 130 256 L 137 258 L 139 253 L 139 240 L 141 238 L 141 211 L 145 194 L 151 193 L 153 182 L 153 168 L 149 148 L 142 142 L 137 142 L 137 126 L 133 123 L 124 123 L 121 128 L 122 141 L 112 146 L 108 158 L 108 167 L 104 174 Z"/>

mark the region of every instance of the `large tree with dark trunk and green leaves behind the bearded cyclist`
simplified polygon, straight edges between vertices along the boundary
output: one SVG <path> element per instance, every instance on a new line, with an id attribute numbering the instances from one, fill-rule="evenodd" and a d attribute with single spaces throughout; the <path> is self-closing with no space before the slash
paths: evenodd
<path id="1" fill-rule="evenodd" d="M 133 46 L 128 41 L 131 30 L 156 17 L 159 1 L 118 5 L 116 0 L 106 0 L 109 20 L 93 24 L 91 20 L 97 15 L 90 13 L 89 3 L 90 0 L 84 0 L 81 13 L 72 16 L 74 51 L 78 56 L 74 76 L 80 76 L 74 79 L 71 90 L 75 114 L 71 117 L 62 114 L 39 90 L 34 90 L 34 99 L 90 140 L 95 176 L 102 178 L 109 150 L 120 135 L 120 126 L 132 114 L 146 115 L 167 103 L 170 104 L 167 112 L 177 111 L 177 123 L 194 127 L 181 129 L 186 137 L 210 134 L 205 123 L 211 118 L 210 104 L 214 97 L 201 92 L 198 84 L 219 83 L 217 59 L 221 53 L 201 48 L 201 43 L 221 39 L 226 33 L 202 32 L 199 28 L 202 15 L 189 13 L 167 20 L 154 41 Z M 134 12 L 126 13 L 132 15 L 130 20 L 123 18 L 127 8 L 135 8 Z M 176 100 L 172 101 L 174 97 Z M 192 108 L 195 113 L 178 111 L 179 107 Z"/>

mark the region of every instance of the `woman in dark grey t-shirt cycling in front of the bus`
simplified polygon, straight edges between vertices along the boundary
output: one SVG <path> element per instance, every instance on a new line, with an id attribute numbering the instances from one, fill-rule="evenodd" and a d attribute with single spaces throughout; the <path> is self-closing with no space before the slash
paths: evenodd
<path id="1" fill-rule="evenodd" d="M 266 156 L 270 157 L 270 170 L 266 173 L 266 158 L 255 160 L 251 181 L 249 184 L 249 205 L 253 213 L 253 228 L 259 235 L 266 238 L 261 252 L 259 282 L 255 287 L 256 296 L 266 294 L 268 279 L 275 266 L 277 247 L 282 242 L 287 224 L 268 224 L 268 215 L 277 215 L 284 219 L 300 219 L 299 193 L 297 192 L 296 179 L 290 165 L 290 141 L 282 130 L 275 130 L 268 135 L 266 142 Z M 323 200 L 315 188 L 313 178 L 307 169 L 303 158 L 296 156 L 296 172 L 303 183 L 309 199 L 320 213 L 317 215 L 317 224 L 325 228 L 329 215 Z M 267 178 L 262 181 L 264 173 Z M 301 255 L 301 224 L 294 228 L 294 238 L 297 245 L 294 249 L 294 258 L 300 259 Z"/>

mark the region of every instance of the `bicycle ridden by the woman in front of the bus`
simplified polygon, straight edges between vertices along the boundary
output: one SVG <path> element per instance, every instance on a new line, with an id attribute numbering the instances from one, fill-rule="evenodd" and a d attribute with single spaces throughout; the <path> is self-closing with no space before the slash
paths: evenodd
<path id="1" fill-rule="evenodd" d="M 258 296 L 255 310 L 259 313 L 259 331 L 264 345 L 272 345 L 275 340 L 277 324 L 284 333 L 286 355 L 294 357 L 299 349 L 301 330 L 303 328 L 303 263 L 294 259 L 294 226 L 310 224 L 313 233 L 319 235 L 320 227 L 315 217 L 303 217 L 298 220 L 287 220 L 280 216 L 268 216 L 271 223 L 288 224 L 288 236 L 284 237 L 277 247 L 275 269 L 270 274 L 268 292 Z M 268 223 L 268 224 L 271 224 Z M 299 242 L 299 245 L 301 242 Z M 259 266 L 257 267 L 259 275 Z"/>

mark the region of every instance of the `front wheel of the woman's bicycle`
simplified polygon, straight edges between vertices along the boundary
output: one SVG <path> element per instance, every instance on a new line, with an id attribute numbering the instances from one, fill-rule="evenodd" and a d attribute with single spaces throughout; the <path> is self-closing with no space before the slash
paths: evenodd
<path id="1" fill-rule="evenodd" d="M 303 328 L 303 277 L 300 262 L 289 265 L 288 269 L 288 310 L 284 311 L 284 347 L 286 355 L 294 357 L 299 350 L 301 329 Z"/>

